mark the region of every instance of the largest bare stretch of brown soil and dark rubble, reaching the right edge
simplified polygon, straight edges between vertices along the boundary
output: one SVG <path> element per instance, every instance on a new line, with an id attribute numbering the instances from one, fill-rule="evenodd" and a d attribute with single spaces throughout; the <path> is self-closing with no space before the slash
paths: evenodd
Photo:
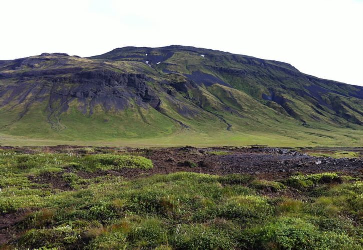
<path id="1" fill-rule="evenodd" d="M 228 155 L 213 155 L 211 151 L 225 151 Z M 258 175 L 264 179 L 279 179 L 295 172 L 321 173 L 345 172 L 353 176 L 363 173 L 363 159 L 332 159 L 311 157 L 296 151 L 279 148 L 162 148 L 154 150 L 130 150 L 154 163 L 151 170 L 123 169 L 119 174 L 125 177 L 165 174 L 179 171 L 208 174 L 244 173 Z M 186 166 L 185 161 L 194 162 L 197 167 Z"/>

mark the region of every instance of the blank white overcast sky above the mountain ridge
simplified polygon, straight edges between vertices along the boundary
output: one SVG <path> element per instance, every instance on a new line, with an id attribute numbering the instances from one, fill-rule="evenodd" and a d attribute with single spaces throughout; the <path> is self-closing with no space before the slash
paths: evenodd
<path id="1" fill-rule="evenodd" d="M 0 60 L 204 47 L 363 86 L 363 0 L 1 0 Z"/>

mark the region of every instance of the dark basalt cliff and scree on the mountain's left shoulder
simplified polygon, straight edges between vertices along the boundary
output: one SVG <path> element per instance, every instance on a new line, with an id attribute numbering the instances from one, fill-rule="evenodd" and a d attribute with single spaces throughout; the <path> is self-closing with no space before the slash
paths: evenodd
<path id="1" fill-rule="evenodd" d="M 37 60 L 21 61 L 21 63 L 29 62 L 36 63 Z M 64 75 L 70 76 L 64 76 Z M 57 75 L 62 75 L 58 76 Z M 14 75 L 1 73 L 0 78 L 10 78 Z M 36 95 L 34 91 L 27 91 L 22 84 L 22 79 L 35 78 L 37 81 L 47 80 L 50 85 L 45 86 L 40 93 L 49 94 L 49 111 L 51 114 L 54 110 L 58 110 L 56 115 L 68 110 L 68 103 L 71 101 L 80 102 L 83 113 L 89 110 L 93 113 L 93 108 L 96 104 L 103 106 L 105 110 L 124 110 L 130 105 L 130 100 L 143 108 L 150 105 L 153 108 L 158 108 L 161 104 L 160 98 L 147 85 L 147 77 L 145 74 L 125 74 L 111 70 L 91 70 L 82 71 L 81 68 L 59 68 L 49 70 L 38 70 L 24 72 L 18 76 L 19 82 L 15 85 L 8 86 L 0 91 L 0 97 L 12 92 L 9 100 L 18 95 L 18 102 L 22 103 L 26 100 L 29 94 Z M 50 77 L 50 78 L 49 78 Z M 34 89 L 41 88 L 40 83 L 37 83 Z M 22 93 L 23 94 L 20 94 Z M 34 99 L 39 101 L 40 99 Z M 3 105 L 6 103 L 2 103 Z"/>

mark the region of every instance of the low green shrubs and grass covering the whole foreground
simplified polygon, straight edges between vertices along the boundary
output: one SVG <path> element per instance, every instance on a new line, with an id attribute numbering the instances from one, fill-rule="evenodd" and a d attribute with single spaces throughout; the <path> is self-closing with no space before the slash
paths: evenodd
<path id="1" fill-rule="evenodd" d="M 126 179 L 108 171 L 149 169 L 151 161 L 78 150 L 82 153 L 0 152 L 0 216 L 20 218 L 9 221 L 16 233 L 3 247 L 363 247 L 363 182 L 356 178 L 321 173 L 267 181 L 179 172 Z"/>

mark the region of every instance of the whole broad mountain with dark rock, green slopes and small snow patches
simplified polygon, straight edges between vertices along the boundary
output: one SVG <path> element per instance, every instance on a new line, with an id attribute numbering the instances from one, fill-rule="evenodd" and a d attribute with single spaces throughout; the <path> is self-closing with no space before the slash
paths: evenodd
<path id="1" fill-rule="evenodd" d="M 361 146 L 362 107 L 363 87 L 204 48 L 0 61 L 0 138 L 10 143 Z"/>

